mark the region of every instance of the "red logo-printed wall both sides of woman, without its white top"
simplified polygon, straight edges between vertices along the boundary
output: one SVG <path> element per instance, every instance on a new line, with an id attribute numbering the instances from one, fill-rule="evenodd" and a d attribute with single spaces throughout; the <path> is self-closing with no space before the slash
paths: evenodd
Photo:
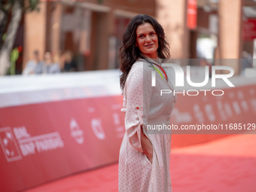
<path id="1" fill-rule="evenodd" d="M 120 108 L 120 95 L 0 108 L 1 191 L 23 190 L 116 163 L 124 134 Z M 251 84 L 227 89 L 221 97 L 179 94 L 172 123 L 255 123 L 255 114 L 256 85 Z M 172 147 L 221 136 L 226 135 L 182 132 L 172 136 Z"/>

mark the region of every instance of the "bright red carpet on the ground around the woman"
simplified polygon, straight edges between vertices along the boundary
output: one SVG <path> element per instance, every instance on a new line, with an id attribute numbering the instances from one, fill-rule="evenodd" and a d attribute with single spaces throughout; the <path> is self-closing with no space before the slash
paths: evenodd
<path id="1" fill-rule="evenodd" d="M 117 191 L 117 174 L 116 163 L 25 191 L 112 192 Z M 172 149 L 171 177 L 172 192 L 255 192 L 256 135 Z"/>

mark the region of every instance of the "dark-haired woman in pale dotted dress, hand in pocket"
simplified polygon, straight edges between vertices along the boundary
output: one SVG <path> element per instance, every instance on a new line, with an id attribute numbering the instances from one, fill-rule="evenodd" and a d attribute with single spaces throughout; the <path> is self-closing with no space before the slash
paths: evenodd
<path id="1" fill-rule="evenodd" d="M 126 112 L 123 142 L 120 147 L 118 188 L 120 192 L 171 191 L 169 174 L 170 134 L 159 134 L 148 125 L 169 124 L 175 103 L 172 84 L 156 72 L 156 86 L 151 86 L 155 70 L 166 75 L 160 66 L 169 58 L 162 26 L 148 15 L 138 15 L 128 24 L 120 48 L 120 87 Z M 162 60 L 163 59 L 163 60 Z"/>

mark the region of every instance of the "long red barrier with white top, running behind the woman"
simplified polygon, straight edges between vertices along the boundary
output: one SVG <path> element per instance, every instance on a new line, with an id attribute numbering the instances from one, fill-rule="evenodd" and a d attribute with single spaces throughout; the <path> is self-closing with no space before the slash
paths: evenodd
<path id="1" fill-rule="evenodd" d="M 0 78 L 0 190 L 24 190 L 117 162 L 124 134 L 119 75 L 109 70 Z M 221 97 L 178 94 L 171 122 L 255 123 L 255 79 L 224 91 Z M 226 135 L 173 134 L 172 147 Z"/>

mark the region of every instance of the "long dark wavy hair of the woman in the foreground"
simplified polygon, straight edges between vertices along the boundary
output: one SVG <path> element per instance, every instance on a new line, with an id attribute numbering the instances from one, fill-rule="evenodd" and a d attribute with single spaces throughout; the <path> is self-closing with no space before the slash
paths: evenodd
<path id="1" fill-rule="evenodd" d="M 120 75 L 121 90 L 123 90 L 127 75 L 130 72 L 133 63 L 136 62 L 138 57 L 144 58 L 139 47 L 136 47 L 136 30 L 138 26 L 144 23 L 150 23 L 157 34 L 157 56 L 160 59 L 169 59 L 169 44 L 165 40 L 163 27 L 157 22 L 157 20 L 148 15 L 140 14 L 133 17 L 123 33 L 123 45 L 120 47 L 120 70 L 123 72 L 122 75 Z"/>

